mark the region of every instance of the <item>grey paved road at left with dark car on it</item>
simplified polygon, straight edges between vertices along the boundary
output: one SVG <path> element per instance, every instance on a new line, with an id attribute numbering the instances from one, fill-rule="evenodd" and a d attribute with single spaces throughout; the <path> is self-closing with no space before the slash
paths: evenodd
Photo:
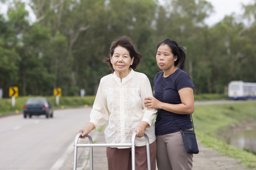
<path id="1" fill-rule="evenodd" d="M 22 114 L 0 118 L 0 169 L 59 169 L 72 154 L 76 131 L 88 124 L 91 109 L 60 109 L 48 119 Z"/>

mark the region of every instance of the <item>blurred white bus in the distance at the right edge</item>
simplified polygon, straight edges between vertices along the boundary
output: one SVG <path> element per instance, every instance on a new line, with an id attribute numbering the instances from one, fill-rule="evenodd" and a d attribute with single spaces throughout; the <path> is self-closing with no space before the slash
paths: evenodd
<path id="1" fill-rule="evenodd" d="M 228 86 L 230 99 L 256 99 L 256 83 L 232 81 Z"/>

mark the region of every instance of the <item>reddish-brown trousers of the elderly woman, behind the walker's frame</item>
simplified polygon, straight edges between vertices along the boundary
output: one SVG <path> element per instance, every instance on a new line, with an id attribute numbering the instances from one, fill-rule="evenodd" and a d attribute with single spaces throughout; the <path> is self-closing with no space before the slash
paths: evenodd
<path id="1" fill-rule="evenodd" d="M 109 170 L 131 170 L 131 148 L 106 148 Z M 151 169 L 156 168 L 156 142 L 150 144 Z M 135 147 L 135 169 L 147 170 L 146 146 Z"/>

